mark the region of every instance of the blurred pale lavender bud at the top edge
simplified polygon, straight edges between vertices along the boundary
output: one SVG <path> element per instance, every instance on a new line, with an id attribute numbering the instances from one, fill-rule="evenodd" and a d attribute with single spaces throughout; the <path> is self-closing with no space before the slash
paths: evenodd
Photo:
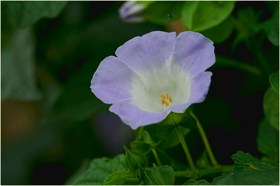
<path id="1" fill-rule="evenodd" d="M 145 5 L 137 1 L 126 1 L 119 8 L 119 16 L 125 22 L 143 22 L 144 18 L 139 14 L 144 10 Z"/>

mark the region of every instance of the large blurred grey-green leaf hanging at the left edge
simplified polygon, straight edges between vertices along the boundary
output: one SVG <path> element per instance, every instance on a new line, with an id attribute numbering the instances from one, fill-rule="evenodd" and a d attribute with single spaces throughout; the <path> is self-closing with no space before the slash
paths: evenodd
<path id="1" fill-rule="evenodd" d="M 1 42 L 1 99 L 41 99 L 36 85 L 34 39 L 31 28 L 14 32 Z"/>

